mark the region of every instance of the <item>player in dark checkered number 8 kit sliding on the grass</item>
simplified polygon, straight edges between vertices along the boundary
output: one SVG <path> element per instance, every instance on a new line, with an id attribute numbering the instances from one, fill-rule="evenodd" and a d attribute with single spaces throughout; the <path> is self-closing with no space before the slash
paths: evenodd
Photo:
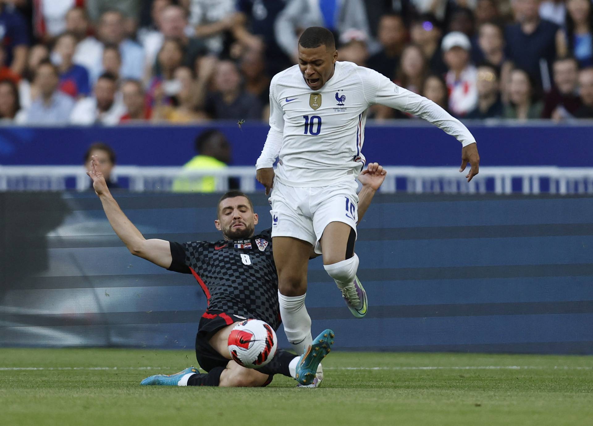
<path id="1" fill-rule="evenodd" d="M 196 358 L 208 373 L 189 367 L 176 374 L 148 377 L 142 385 L 266 386 L 274 374 L 284 374 L 294 379 L 299 377 L 299 385 L 318 386 L 321 377 L 316 375 L 320 360 L 333 344 L 333 333 L 329 330 L 314 339 L 305 354 L 277 350 L 272 361 L 258 369 L 241 366 L 229 354 L 228 337 L 237 323 L 259 319 L 274 329 L 280 326 L 278 275 L 272 255 L 271 231 L 266 229 L 254 235 L 259 218 L 245 194 L 230 191 L 219 200 L 214 225 L 222 232 L 223 239 L 180 244 L 142 236 L 111 196 L 94 156 L 87 174 L 93 179 L 93 188 L 107 219 L 129 251 L 170 271 L 192 274 L 208 300 L 208 309 L 200 319 L 196 335 Z M 368 209 L 385 174 L 382 166 L 372 163 L 359 175 L 362 183 L 359 219 Z M 312 251 L 311 257 L 314 256 Z M 307 379 L 301 380 L 303 377 Z"/>

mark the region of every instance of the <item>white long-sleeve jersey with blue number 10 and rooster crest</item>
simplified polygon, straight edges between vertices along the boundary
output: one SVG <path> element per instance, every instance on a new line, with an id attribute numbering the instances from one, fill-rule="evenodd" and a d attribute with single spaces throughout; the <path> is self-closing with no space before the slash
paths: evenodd
<path id="1" fill-rule="evenodd" d="M 336 62 L 329 81 L 312 91 L 294 65 L 270 82 L 270 130 L 256 168 L 272 167 L 279 157 L 276 178 L 293 187 L 354 179 L 365 164 L 366 113 L 373 104 L 424 118 L 463 146 L 476 142 L 457 118 L 372 69 Z"/>

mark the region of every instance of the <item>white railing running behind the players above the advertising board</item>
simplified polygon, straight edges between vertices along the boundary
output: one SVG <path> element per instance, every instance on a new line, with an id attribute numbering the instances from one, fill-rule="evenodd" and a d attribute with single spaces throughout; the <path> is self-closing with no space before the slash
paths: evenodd
<path id="1" fill-rule="evenodd" d="M 469 183 L 464 178 L 466 172 L 459 173 L 455 166 L 386 169 L 381 187 L 384 193 L 593 194 L 593 168 L 483 166 Z M 210 176 L 215 177 L 217 192 L 228 190 L 228 178 L 236 178 L 246 193 L 256 191 L 255 168 L 251 166 L 192 172 L 179 167 L 117 166 L 112 175 L 137 192 L 167 192 L 179 177 L 193 182 Z M 84 191 L 89 185 L 90 178 L 79 166 L 0 166 L 0 191 Z"/>

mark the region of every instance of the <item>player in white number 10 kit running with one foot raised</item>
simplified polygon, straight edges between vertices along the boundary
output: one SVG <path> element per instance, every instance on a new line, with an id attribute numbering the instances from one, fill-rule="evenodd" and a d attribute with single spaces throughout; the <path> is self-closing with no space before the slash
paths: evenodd
<path id="1" fill-rule="evenodd" d="M 298 56 L 298 65 L 270 82 L 270 130 L 256 168 L 266 194 L 272 190 L 280 315 L 288 341 L 301 354 L 312 340 L 305 308 L 312 250 L 323 254 L 324 268 L 342 290 L 353 315 L 366 315 L 366 292 L 356 277 L 359 260 L 354 243 L 355 177 L 366 162 L 362 146 L 367 108 L 373 104 L 396 108 L 456 137 L 463 146 L 460 172 L 471 164 L 467 181 L 478 173 L 479 155 L 466 126 L 432 101 L 372 69 L 337 62 L 334 37 L 326 28 L 307 28 L 299 39 Z"/>

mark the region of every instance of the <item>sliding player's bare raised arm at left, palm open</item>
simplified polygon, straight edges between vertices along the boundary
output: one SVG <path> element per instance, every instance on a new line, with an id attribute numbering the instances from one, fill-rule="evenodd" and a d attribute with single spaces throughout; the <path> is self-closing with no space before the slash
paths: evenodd
<path id="1" fill-rule="evenodd" d="M 173 258 L 169 242 L 163 239 L 145 239 L 138 228 L 130 222 L 115 198 L 111 196 L 101 171 L 101 165 L 98 164 L 94 155 L 91 157 L 91 169 L 87 171 L 87 175 L 93 180 L 93 189 L 103 204 L 103 210 L 109 219 L 111 228 L 124 242 L 130 253 L 160 267 L 170 267 Z"/>

